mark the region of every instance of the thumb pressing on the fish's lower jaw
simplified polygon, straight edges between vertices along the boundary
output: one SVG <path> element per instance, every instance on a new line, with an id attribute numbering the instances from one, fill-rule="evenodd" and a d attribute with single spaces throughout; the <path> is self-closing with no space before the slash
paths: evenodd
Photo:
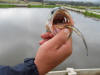
<path id="1" fill-rule="evenodd" d="M 50 39 L 47 43 L 49 46 L 53 48 L 60 48 L 64 43 L 66 43 L 67 38 L 69 37 L 70 31 L 68 29 L 63 29 L 59 33 L 56 34 L 52 39 Z"/>

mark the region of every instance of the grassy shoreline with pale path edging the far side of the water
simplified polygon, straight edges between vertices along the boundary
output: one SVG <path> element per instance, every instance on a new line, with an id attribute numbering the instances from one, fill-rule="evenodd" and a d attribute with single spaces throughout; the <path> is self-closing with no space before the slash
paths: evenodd
<path id="1" fill-rule="evenodd" d="M 20 7 L 26 7 L 26 8 L 54 8 L 54 7 L 61 7 L 62 5 L 38 5 L 38 4 L 0 4 L 0 8 L 20 8 Z M 87 10 L 86 7 L 82 7 L 82 6 L 63 6 L 65 8 L 67 8 L 68 10 L 71 11 L 75 11 L 75 12 L 80 12 L 82 13 L 84 16 L 88 16 L 88 17 L 93 17 L 93 18 L 97 18 L 100 19 L 100 13 L 99 12 L 95 12 L 95 11 L 91 11 L 91 10 Z M 97 7 L 89 7 L 89 8 L 95 8 L 97 9 Z M 99 9 L 100 7 L 98 7 Z"/>

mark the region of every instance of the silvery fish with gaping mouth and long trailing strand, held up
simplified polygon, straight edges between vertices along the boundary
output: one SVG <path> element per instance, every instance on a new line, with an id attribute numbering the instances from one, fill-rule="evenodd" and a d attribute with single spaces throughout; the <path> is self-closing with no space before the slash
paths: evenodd
<path id="1" fill-rule="evenodd" d="M 83 40 L 86 55 L 88 56 L 88 46 L 85 41 L 85 38 L 78 28 L 75 27 L 74 21 L 65 7 L 55 7 L 50 12 L 49 19 L 46 23 L 46 32 L 51 32 L 53 35 L 56 35 L 62 29 L 68 28 L 70 35 L 68 39 L 72 36 L 73 31 Z"/>

